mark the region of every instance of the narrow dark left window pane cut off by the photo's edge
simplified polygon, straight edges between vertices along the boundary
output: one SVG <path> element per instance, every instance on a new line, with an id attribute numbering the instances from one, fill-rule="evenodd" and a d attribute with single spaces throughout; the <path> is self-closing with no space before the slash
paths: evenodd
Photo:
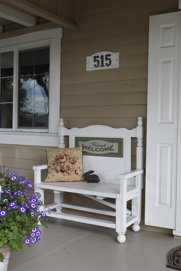
<path id="1" fill-rule="evenodd" d="M 13 127 L 14 52 L 0 53 L 0 128 Z"/>

